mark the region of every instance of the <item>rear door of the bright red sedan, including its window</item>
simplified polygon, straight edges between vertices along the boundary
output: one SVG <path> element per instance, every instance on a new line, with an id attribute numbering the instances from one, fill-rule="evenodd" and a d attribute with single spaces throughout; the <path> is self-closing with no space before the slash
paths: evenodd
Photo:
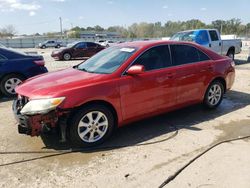
<path id="1" fill-rule="evenodd" d="M 196 63 L 199 54 L 190 45 L 171 45 L 173 64 L 176 69 L 177 104 L 189 104 L 200 100 L 200 78 Z"/>

